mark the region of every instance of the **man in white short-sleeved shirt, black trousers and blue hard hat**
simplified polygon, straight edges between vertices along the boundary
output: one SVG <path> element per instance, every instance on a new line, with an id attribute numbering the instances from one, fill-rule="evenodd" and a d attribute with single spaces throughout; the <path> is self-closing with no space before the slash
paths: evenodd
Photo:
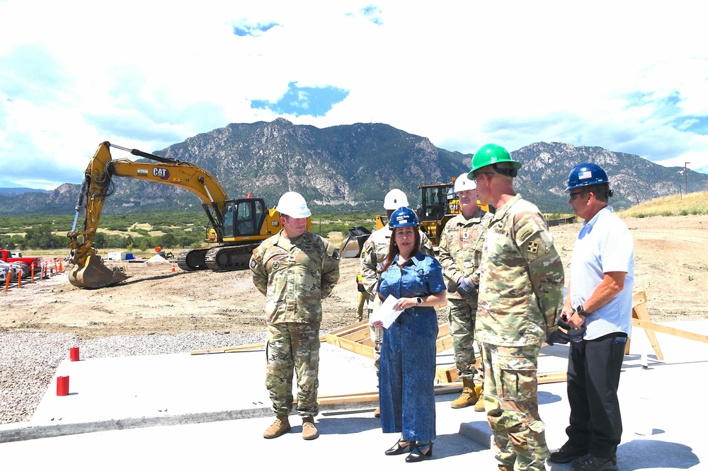
<path id="1" fill-rule="evenodd" d="M 561 317 L 582 338 L 571 342 L 568 361 L 568 441 L 549 461 L 572 470 L 617 470 L 622 437 L 617 388 L 624 345 L 632 330 L 634 241 L 612 208 L 607 173 L 581 163 L 568 177 L 569 204 L 585 222 L 571 258 L 571 281 Z"/>

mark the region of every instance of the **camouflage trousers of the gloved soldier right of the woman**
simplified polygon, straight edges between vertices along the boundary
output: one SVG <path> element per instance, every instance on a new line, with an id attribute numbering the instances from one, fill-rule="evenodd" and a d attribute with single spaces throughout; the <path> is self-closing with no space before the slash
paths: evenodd
<path id="1" fill-rule="evenodd" d="M 455 366 L 459 378 L 473 380 L 476 385 L 484 383 L 484 363 L 474 367 L 474 320 L 477 313 L 475 299 L 447 298 L 447 322 L 450 323 L 452 350 L 455 351 Z M 481 353 L 481 349 L 480 349 Z"/>

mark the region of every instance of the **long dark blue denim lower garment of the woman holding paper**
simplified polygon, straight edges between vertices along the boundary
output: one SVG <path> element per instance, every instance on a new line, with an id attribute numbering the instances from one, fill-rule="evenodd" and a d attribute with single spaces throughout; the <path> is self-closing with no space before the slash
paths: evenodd
<path id="1" fill-rule="evenodd" d="M 401 432 L 406 441 L 435 440 L 436 339 L 438 318 L 432 308 L 424 313 L 405 310 L 384 329 L 379 364 L 384 433 Z"/>

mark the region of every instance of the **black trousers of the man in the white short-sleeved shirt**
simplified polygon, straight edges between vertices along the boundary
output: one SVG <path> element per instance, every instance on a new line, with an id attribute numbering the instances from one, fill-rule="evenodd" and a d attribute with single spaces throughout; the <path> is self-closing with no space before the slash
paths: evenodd
<path id="1" fill-rule="evenodd" d="M 583 342 L 571 342 L 568 361 L 570 425 L 566 428 L 572 446 L 585 448 L 598 458 L 617 453 L 622 438 L 617 388 L 627 335 L 615 332 Z"/>

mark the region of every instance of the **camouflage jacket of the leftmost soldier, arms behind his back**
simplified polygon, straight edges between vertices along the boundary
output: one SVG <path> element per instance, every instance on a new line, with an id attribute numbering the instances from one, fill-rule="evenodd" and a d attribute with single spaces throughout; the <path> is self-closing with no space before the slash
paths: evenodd
<path id="1" fill-rule="evenodd" d="M 295 243 L 280 231 L 253 250 L 253 284 L 265 294 L 265 317 L 278 322 L 321 322 L 322 298 L 339 279 L 339 252 L 316 234 Z"/>

